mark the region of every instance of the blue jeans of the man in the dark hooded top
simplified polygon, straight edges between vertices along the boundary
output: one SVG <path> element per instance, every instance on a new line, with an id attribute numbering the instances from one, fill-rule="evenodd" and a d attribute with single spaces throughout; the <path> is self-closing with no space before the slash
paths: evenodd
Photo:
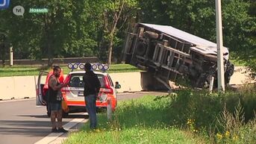
<path id="1" fill-rule="evenodd" d="M 90 119 L 90 128 L 95 129 L 97 126 L 97 116 L 96 116 L 96 95 L 85 96 L 85 102 L 87 107 L 87 113 Z"/>

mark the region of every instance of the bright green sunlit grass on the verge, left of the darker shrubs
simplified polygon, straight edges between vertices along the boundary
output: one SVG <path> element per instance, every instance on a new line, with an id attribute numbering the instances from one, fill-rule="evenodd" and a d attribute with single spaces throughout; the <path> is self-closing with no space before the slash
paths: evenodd
<path id="1" fill-rule="evenodd" d="M 64 143 L 202 143 L 190 133 L 169 125 L 169 100 L 145 96 L 122 101 L 112 122 L 107 122 L 106 114 L 101 113 L 99 129 L 90 131 L 89 126 L 85 125 Z"/>

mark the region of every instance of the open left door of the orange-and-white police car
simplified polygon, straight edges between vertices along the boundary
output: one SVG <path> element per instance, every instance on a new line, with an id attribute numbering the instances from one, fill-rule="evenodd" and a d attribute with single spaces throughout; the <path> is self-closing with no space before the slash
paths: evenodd
<path id="1" fill-rule="evenodd" d="M 43 87 L 45 86 L 45 84 L 48 84 L 48 78 L 49 77 L 49 72 L 43 72 L 41 71 L 38 75 L 38 79 L 37 79 L 37 105 L 46 105 L 46 102 L 44 102 L 45 100 L 43 99 L 44 93 L 43 93 Z M 45 79 L 43 79 L 45 78 Z"/>

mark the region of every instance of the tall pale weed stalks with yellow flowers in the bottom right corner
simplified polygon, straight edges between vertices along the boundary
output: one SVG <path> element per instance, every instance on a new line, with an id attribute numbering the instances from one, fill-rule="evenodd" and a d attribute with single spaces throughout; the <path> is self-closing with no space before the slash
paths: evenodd
<path id="1" fill-rule="evenodd" d="M 256 120 L 245 122 L 244 110 L 239 101 L 234 113 L 224 110 L 218 118 L 217 143 L 256 143 Z"/>

